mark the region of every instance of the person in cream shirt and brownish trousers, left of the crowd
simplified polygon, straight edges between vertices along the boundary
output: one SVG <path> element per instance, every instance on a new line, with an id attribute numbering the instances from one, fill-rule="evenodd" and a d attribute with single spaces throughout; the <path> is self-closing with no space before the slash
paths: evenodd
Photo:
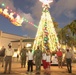
<path id="1" fill-rule="evenodd" d="M 5 50 L 5 70 L 4 73 L 7 72 L 7 68 L 8 68 L 8 73 L 11 72 L 11 65 L 12 65 L 12 56 L 14 54 L 14 50 L 11 48 L 11 44 L 8 44 L 8 49 Z"/>

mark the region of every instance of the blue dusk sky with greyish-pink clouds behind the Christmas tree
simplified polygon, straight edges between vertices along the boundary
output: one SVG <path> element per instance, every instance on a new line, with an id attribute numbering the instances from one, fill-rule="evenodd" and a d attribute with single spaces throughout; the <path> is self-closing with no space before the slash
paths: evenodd
<path id="1" fill-rule="evenodd" d="M 0 0 L 0 7 L 2 3 L 21 17 L 25 17 L 29 22 L 39 25 L 42 15 L 42 3 L 39 0 Z M 50 14 L 58 22 L 59 27 L 62 28 L 76 19 L 76 0 L 54 0 L 50 6 Z M 35 37 L 37 32 L 37 28 L 25 21 L 21 27 L 18 27 L 11 24 L 2 15 L 0 15 L 0 30 L 6 33 L 29 37 Z"/>

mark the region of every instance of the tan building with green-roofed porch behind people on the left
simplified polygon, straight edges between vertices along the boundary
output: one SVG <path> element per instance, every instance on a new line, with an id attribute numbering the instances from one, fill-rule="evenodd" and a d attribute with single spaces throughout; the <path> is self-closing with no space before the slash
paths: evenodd
<path id="1" fill-rule="evenodd" d="M 31 41 L 32 40 L 32 41 Z M 0 31 L 0 49 L 2 46 L 4 46 L 6 49 L 8 49 L 8 44 L 12 44 L 12 48 L 14 49 L 14 56 L 19 54 L 20 50 L 24 46 L 32 46 L 34 39 L 31 39 L 29 37 L 23 37 L 23 36 L 18 36 L 14 34 L 9 34 Z"/>

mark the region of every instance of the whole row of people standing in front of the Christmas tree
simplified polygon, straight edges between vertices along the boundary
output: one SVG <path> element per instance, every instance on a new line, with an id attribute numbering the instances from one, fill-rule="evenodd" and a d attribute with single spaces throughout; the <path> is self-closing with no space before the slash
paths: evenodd
<path id="1" fill-rule="evenodd" d="M 12 56 L 14 54 L 14 50 L 12 49 L 11 44 L 8 44 L 8 49 L 5 49 L 4 47 L 2 48 L 4 50 L 4 61 L 5 61 L 5 68 L 4 68 L 4 73 L 11 73 L 11 65 L 12 65 Z M 33 64 L 36 66 L 36 74 L 40 74 L 41 71 L 41 64 L 43 64 L 44 68 L 44 74 L 50 75 L 51 74 L 51 61 L 52 61 L 52 53 L 50 52 L 49 48 L 47 50 L 40 50 L 39 46 L 37 47 L 37 50 L 34 52 L 32 49 L 29 51 L 24 48 L 21 49 L 20 51 L 20 58 L 21 58 L 21 68 L 26 68 L 26 58 L 28 59 L 27 62 L 27 72 L 33 72 Z M 1 52 L 0 52 L 1 54 Z M 57 55 L 57 60 L 58 60 L 58 67 L 63 68 L 63 52 L 59 48 L 56 52 Z M 1 56 L 1 55 L 0 55 Z M 18 56 L 19 57 L 19 56 Z M 69 49 L 66 49 L 64 61 L 66 61 L 67 65 L 67 70 L 69 73 L 72 73 L 72 60 L 73 60 L 73 54 L 70 52 Z M 7 68 L 9 66 L 9 68 Z M 7 70 L 8 69 L 8 70 Z"/>

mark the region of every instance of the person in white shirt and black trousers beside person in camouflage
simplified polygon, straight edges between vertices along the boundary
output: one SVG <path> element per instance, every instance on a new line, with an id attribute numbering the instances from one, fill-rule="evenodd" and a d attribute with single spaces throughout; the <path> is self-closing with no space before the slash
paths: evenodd
<path id="1" fill-rule="evenodd" d="M 28 68 L 27 68 L 27 74 L 28 72 L 33 72 L 33 53 L 32 50 L 30 50 L 30 52 L 27 53 L 27 58 L 28 58 Z"/>

